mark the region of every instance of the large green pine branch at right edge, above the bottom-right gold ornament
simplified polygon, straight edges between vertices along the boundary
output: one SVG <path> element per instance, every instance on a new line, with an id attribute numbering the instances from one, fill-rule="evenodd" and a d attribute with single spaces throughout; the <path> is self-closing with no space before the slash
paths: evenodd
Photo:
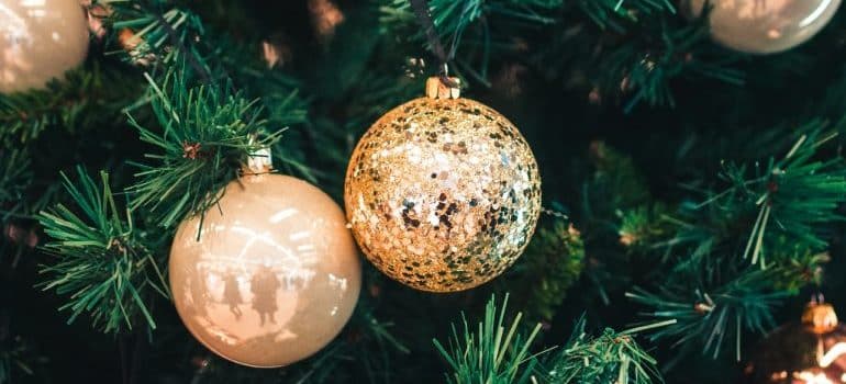
<path id="1" fill-rule="evenodd" d="M 766 331 L 782 298 L 819 282 L 827 261 L 822 228 L 842 221 L 836 208 L 846 201 L 846 165 L 841 158 L 816 160 L 834 135 L 811 132 L 779 160 L 726 165 L 722 178 L 728 188 L 682 204 L 681 218 L 663 217 L 660 233 L 668 238 L 653 237 L 653 247 L 677 255 L 671 273 L 657 293 L 627 293 L 653 308 L 649 317 L 679 320 L 653 339 L 689 350 L 702 346 L 714 358 L 732 348 L 739 360 L 745 330 Z"/>

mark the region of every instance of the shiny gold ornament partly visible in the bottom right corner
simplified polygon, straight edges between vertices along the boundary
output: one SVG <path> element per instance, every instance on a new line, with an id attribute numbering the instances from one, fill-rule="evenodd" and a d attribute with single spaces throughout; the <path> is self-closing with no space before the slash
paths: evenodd
<path id="1" fill-rule="evenodd" d="M 767 336 L 746 375 L 755 384 L 846 383 L 846 327 L 830 304 L 812 302 L 801 324 Z"/>

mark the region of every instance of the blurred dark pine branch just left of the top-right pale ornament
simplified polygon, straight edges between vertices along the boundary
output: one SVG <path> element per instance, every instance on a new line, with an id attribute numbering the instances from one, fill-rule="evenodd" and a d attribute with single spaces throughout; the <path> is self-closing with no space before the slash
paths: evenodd
<path id="1" fill-rule="evenodd" d="M 610 14 L 605 1 L 589 2 L 582 9 L 599 14 L 594 21 L 600 27 L 586 25 L 565 10 L 564 21 L 554 24 L 550 38 L 528 63 L 549 80 L 585 89 L 592 103 L 622 103 L 624 112 L 642 103 L 675 106 L 672 84 L 677 80 L 744 83 L 744 72 L 736 68 L 742 56 L 710 42 L 706 14 L 688 22 L 660 0 L 615 1 L 623 7 L 619 10 L 639 8 L 627 12 L 637 20 L 617 21 L 620 18 L 601 19 Z"/>

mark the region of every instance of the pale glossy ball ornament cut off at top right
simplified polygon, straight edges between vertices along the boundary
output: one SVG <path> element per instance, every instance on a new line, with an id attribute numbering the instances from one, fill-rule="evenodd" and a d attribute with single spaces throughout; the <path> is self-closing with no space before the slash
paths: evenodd
<path id="1" fill-rule="evenodd" d="M 682 0 L 688 14 L 699 16 L 704 7 L 711 35 L 720 44 L 750 54 L 790 49 L 825 26 L 841 0 Z"/>

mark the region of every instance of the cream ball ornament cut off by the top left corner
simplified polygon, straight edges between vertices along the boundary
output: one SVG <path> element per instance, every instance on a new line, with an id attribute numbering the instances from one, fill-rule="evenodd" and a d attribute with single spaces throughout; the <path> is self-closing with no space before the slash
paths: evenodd
<path id="1" fill-rule="evenodd" d="M 0 93 L 44 87 L 87 53 L 79 0 L 0 0 Z"/>

